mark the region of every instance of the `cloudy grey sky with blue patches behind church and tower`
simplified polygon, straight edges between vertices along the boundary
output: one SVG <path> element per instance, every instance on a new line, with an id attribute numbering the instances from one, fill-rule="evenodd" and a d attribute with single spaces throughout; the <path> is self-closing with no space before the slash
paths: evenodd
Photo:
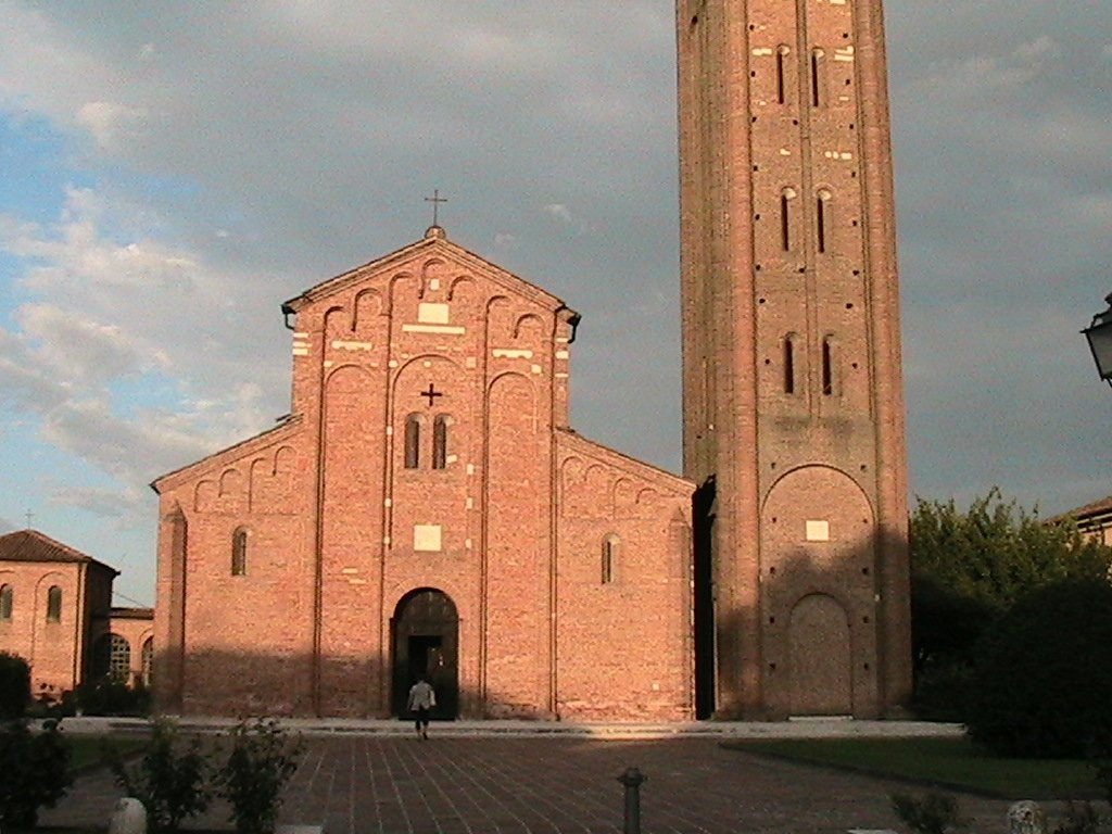
<path id="1" fill-rule="evenodd" d="M 1112 4 L 885 4 L 912 495 L 1112 494 Z M 0 0 L 0 533 L 152 604 L 157 476 L 289 410 L 281 301 L 450 239 L 583 314 L 573 426 L 681 460 L 668 0 Z M 28 515 L 30 514 L 30 515 Z"/>

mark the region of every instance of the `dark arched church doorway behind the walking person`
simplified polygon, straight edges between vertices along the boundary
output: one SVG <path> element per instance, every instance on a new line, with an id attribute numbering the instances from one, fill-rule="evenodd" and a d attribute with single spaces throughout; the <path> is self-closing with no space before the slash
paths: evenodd
<path id="1" fill-rule="evenodd" d="M 401 597 L 390 620 L 394 685 L 393 711 L 408 717 L 406 698 L 418 677 L 436 689 L 434 718 L 459 714 L 459 615 L 451 598 L 435 588 Z"/>

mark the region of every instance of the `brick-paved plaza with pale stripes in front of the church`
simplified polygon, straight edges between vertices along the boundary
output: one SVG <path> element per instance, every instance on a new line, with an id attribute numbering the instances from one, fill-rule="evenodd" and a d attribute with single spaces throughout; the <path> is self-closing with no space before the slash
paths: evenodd
<path id="1" fill-rule="evenodd" d="M 397 734 L 307 737 L 280 822 L 325 834 L 563 834 L 620 832 L 629 766 L 642 786 L 645 834 L 846 832 L 891 828 L 893 791 L 922 788 L 725 749 L 722 737 L 615 739 L 475 737 L 433 726 L 425 742 Z M 120 791 L 95 772 L 44 825 L 103 825 Z M 1017 797 L 1019 798 L 1019 797 Z M 960 797 L 981 834 L 1006 830 L 1007 802 Z M 195 827 L 227 827 L 217 807 Z"/>

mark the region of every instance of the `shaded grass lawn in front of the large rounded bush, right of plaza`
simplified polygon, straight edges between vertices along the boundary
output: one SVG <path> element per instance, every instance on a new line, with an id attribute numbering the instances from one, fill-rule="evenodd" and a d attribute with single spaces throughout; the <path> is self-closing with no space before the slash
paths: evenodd
<path id="1" fill-rule="evenodd" d="M 996 758 L 964 738 L 777 738 L 726 746 L 1007 800 L 1102 798 L 1082 761 Z"/>

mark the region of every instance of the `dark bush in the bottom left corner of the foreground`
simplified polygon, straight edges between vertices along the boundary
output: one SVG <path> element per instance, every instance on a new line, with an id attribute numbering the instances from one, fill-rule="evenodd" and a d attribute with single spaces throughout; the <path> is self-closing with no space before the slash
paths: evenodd
<path id="1" fill-rule="evenodd" d="M 69 753 L 58 722 L 44 722 L 40 733 L 23 722 L 0 727 L 0 827 L 33 828 L 39 808 L 66 795 L 73 784 Z"/>

